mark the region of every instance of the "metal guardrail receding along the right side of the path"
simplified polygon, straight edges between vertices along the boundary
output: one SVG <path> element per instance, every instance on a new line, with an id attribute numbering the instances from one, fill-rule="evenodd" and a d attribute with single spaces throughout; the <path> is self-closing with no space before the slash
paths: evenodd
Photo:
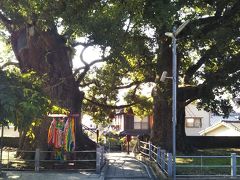
<path id="1" fill-rule="evenodd" d="M 156 162 L 165 175 L 172 176 L 172 154 L 154 146 L 151 142 L 139 141 L 139 151 L 150 160 Z"/>

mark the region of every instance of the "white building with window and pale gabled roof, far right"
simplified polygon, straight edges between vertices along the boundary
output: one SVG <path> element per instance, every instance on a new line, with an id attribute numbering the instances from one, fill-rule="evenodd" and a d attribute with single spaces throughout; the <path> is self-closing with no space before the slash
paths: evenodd
<path id="1" fill-rule="evenodd" d="M 240 136 L 240 114 L 230 113 L 228 118 L 198 110 L 194 104 L 185 108 L 187 136 Z"/>

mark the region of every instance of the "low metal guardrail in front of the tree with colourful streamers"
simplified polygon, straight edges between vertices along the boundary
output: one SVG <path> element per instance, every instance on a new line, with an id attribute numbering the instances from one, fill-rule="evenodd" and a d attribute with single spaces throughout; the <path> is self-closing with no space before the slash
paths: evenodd
<path id="1" fill-rule="evenodd" d="M 54 159 L 52 155 L 55 151 L 35 151 L 20 150 L 29 158 L 15 158 L 16 151 L 5 150 L 4 157 L 1 159 L 2 170 L 28 170 L 28 171 L 47 171 L 47 170 L 82 170 L 96 171 L 100 173 L 105 164 L 105 152 L 103 146 L 98 146 L 96 150 L 73 151 L 64 153 L 68 158 Z M 88 158 L 86 158 L 88 157 Z M 90 157 L 90 158 L 89 158 Z"/>

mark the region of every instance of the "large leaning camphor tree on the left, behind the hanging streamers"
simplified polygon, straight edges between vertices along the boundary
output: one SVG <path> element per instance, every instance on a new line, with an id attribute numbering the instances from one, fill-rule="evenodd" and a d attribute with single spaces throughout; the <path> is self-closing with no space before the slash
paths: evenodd
<path id="1" fill-rule="evenodd" d="M 68 109 L 71 114 L 80 114 L 84 93 L 79 90 L 72 71 L 74 52 L 67 45 L 69 39 L 57 31 L 58 18 L 50 13 L 53 6 L 40 1 L 1 1 L 0 6 L 1 24 L 6 29 L 2 33 L 9 36 L 21 72 L 34 71 L 38 76 L 46 77 L 44 89 L 53 103 Z M 76 29 L 71 31 L 75 33 Z M 82 133 L 79 123 L 76 122 L 76 147 L 94 148 L 95 143 Z M 43 121 L 45 132 L 41 132 L 40 136 L 47 135 L 49 125 L 49 120 Z M 39 144 L 41 148 L 47 147 L 47 141 L 42 144 Z"/>

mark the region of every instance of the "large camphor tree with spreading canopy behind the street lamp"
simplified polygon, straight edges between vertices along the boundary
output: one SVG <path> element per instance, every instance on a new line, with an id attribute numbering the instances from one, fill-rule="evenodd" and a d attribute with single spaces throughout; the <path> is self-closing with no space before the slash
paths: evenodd
<path id="1" fill-rule="evenodd" d="M 172 76 L 171 39 L 165 33 L 190 20 L 177 37 L 177 148 L 190 149 L 185 106 L 197 102 L 199 108 L 227 116 L 232 110 L 230 101 L 239 96 L 239 8 L 238 1 L 103 2 L 89 18 L 89 23 L 98 22 L 98 26 L 91 23 L 89 38 L 110 49 L 112 59 L 88 79 L 93 89 L 88 96 L 105 102 L 110 96 L 103 94 L 120 88 L 106 74 L 114 74 L 115 82 L 123 79 L 122 87 L 132 86 L 126 96 L 129 103 L 142 103 L 138 92 L 144 88 L 141 84 L 154 84 L 151 140 L 171 151 L 172 82 L 159 80 L 163 71 Z M 105 84 L 109 84 L 107 93 L 103 93 Z"/>

